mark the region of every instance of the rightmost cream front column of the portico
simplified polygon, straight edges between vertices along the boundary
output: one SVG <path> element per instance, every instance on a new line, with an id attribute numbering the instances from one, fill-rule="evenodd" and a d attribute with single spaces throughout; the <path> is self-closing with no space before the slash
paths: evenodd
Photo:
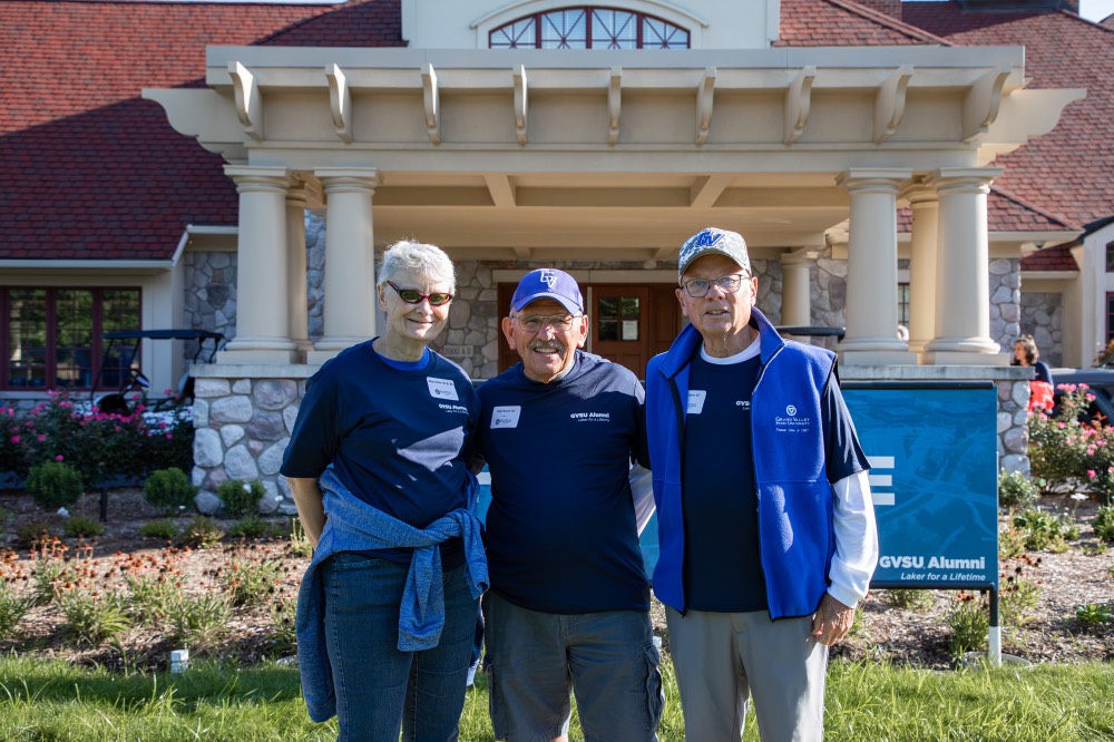
<path id="1" fill-rule="evenodd" d="M 990 339 L 990 248 L 986 197 L 1000 168 L 944 168 L 934 175 L 940 197 L 936 264 L 936 336 L 922 360 L 932 364 L 1005 365 Z"/>

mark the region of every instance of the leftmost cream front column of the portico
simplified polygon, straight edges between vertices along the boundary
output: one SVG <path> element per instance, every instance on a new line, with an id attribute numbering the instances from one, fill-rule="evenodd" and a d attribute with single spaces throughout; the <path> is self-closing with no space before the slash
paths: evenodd
<path id="1" fill-rule="evenodd" d="M 291 363 L 286 263 L 285 167 L 229 165 L 240 194 L 236 247 L 236 336 L 217 363 Z"/>

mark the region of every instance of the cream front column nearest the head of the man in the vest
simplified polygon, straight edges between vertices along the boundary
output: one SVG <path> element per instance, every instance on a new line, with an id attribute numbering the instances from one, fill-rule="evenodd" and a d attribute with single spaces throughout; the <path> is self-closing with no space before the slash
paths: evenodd
<path id="1" fill-rule="evenodd" d="M 898 189 L 910 170 L 852 169 L 840 176 L 851 197 L 847 261 L 847 335 L 840 363 L 916 363 L 898 338 Z"/>

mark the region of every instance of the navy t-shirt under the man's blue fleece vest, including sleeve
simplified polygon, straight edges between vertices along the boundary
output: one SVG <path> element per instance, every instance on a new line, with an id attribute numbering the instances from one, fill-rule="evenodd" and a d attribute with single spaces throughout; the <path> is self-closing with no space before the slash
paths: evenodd
<path id="1" fill-rule="evenodd" d="M 694 611 L 764 611 L 759 550 L 758 484 L 751 440 L 751 396 L 758 342 L 731 359 L 697 353 L 688 377 L 683 507 L 685 604 Z M 821 396 L 828 481 L 867 468 L 867 457 L 838 384 Z"/>

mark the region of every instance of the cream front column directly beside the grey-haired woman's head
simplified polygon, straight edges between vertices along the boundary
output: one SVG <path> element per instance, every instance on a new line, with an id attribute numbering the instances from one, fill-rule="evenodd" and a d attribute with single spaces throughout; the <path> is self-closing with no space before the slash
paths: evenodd
<path id="1" fill-rule="evenodd" d="M 315 170 L 325 188 L 324 335 L 306 354 L 324 363 L 375 335 L 375 248 L 371 198 L 375 168 Z"/>

